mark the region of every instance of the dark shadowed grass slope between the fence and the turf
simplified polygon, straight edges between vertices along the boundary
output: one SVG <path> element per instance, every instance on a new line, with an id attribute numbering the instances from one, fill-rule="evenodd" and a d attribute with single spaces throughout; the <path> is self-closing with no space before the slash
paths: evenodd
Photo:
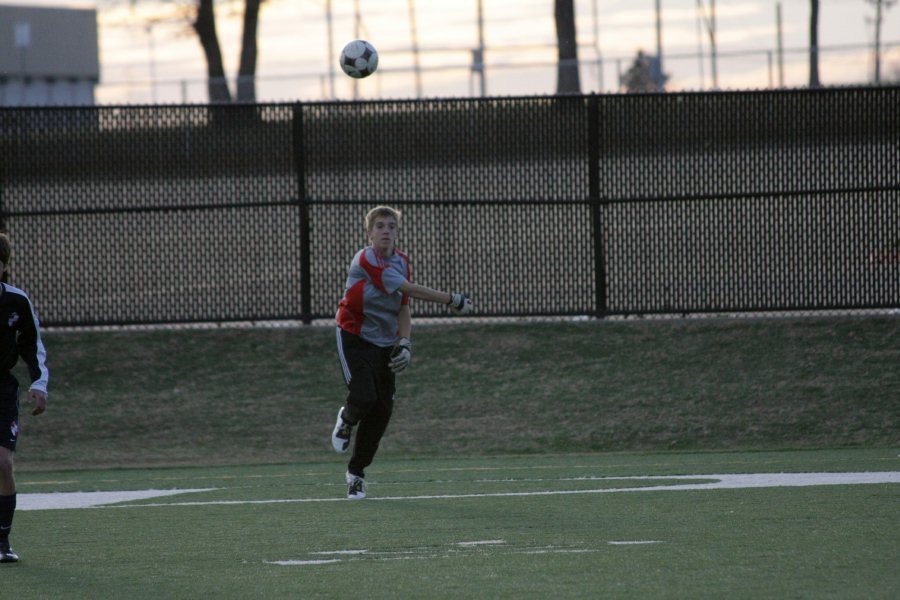
<path id="1" fill-rule="evenodd" d="M 381 455 L 890 446 L 898 334 L 891 317 L 415 326 Z M 44 338 L 50 406 L 23 405 L 21 469 L 331 453 L 331 328 Z"/>

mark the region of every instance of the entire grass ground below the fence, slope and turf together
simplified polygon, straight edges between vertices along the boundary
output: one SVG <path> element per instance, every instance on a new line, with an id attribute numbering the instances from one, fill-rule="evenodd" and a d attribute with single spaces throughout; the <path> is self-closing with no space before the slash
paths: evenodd
<path id="1" fill-rule="evenodd" d="M 349 502 L 330 328 L 47 332 L 0 577 L 17 598 L 895 598 L 898 333 L 418 327 Z"/>

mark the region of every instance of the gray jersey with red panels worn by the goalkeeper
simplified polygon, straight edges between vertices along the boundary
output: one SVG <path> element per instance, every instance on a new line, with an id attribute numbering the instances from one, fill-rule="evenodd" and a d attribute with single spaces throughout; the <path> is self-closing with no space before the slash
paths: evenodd
<path id="1" fill-rule="evenodd" d="M 409 257 L 399 250 L 384 258 L 370 246 L 356 253 L 337 313 L 338 326 L 376 346 L 392 346 L 398 336 L 397 315 L 409 304 L 400 286 L 412 280 Z"/>

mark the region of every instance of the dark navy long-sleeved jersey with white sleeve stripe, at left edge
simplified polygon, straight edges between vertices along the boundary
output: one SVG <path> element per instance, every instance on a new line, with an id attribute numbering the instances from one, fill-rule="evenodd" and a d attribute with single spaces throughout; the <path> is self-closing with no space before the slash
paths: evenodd
<path id="1" fill-rule="evenodd" d="M 0 372 L 11 371 L 22 359 L 31 375 L 30 389 L 47 393 L 47 351 L 41 327 L 28 295 L 0 283 Z"/>

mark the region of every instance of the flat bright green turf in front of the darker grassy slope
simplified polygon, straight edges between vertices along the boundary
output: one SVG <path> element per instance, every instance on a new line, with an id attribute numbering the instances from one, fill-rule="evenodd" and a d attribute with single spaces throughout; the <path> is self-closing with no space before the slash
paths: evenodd
<path id="1" fill-rule="evenodd" d="M 894 598 L 900 484 L 586 492 L 625 485 L 606 477 L 900 471 L 898 451 L 385 459 L 362 502 L 342 499 L 337 457 L 24 473 L 23 493 L 216 489 L 20 511 L 22 561 L 0 577 L 23 599 Z M 560 491 L 581 493 L 546 493 Z"/>

